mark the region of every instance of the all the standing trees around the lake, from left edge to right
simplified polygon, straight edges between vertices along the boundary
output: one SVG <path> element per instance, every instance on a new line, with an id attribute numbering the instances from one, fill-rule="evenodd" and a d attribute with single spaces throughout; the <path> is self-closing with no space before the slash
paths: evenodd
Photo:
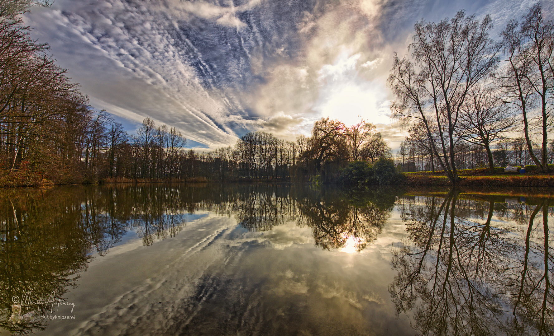
<path id="1" fill-rule="evenodd" d="M 418 22 L 406 56 L 388 77 L 392 117 L 406 132 L 393 153 L 376 126 L 321 118 L 309 137 L 285 141 L 248 132 L 233 146 L 186 148 L 186 135 L 145 118 L 134 134 L 95 110 L 48 45 L 30 38 L 20 14 L 31 0 L 0 2 L 0 185 L 155 180 L 387 183 L 394 170 L 442 170 L 554 162 L 554 24 L 540 3 L 512 19 L 499 39 L 482 20 L 458 12 Z M 373 178 L 372 164 L 386 178 Z M 392 168 L 391 168 L 392 167 Z M 376 168 L 377 169 L 377 168 Z M 391 170 L 392 169 L 392 170 Z M 384 170 L 383 170 L 384 171 Z M 360 177 L 360 174 L 362 176 Z M 356 181 L 352 180 L 355 178 Z"/>

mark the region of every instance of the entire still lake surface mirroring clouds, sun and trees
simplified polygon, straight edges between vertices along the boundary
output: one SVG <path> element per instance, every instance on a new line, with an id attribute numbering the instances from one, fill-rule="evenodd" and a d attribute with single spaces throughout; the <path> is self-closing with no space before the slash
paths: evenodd
<path id="1" fill-rule="evenodd" d="M 0 190 L 0 334 L 552 335 L 554 190 Z"/>

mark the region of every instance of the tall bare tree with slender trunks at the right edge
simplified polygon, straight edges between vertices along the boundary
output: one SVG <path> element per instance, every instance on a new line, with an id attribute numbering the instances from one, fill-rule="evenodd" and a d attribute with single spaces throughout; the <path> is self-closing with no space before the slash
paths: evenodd
<path id="1" fill-rule="evenodd" d="M 552 108 L 550 100 L 554 93 L 551 61 L 554 49 L 554 23 L 552 20 L 543 20 L 541 4 L 536 3 L 521 20 L 510 20 L 501 36 L 506 65 L 497 77 L 505 101 L 515 110 L 521 111 L 529 155 L 542 172 L 548 172 L 547 128 Z M 540 129 L 540 159 L 533 148 L 534 123 Z"/>

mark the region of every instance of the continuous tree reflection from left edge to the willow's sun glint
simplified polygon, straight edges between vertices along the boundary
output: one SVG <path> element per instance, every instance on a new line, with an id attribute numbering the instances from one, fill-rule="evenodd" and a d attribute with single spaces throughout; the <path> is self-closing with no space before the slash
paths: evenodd
<path id="1" fill-rule="evenodd" d="M 12 333 L 43 329 L 43 305 L 23 306 L 16 321 L 13 296 L 38 302 L 78 283 L 91 255 L 106 255 L 133 230 L 142 244 L 173 237 L 185 215 L 211 211 L 234 216 L 249 231 L 296 221 L 313 230 L 323 249 L 360 251 L 375 240 L 394 197 L 376 205 L 375 193 L 270 184 L 107 185 L 89 188 L 14 189 L 0 194 L 2 302 L 0 327 Z M 20 302 L 19 302 L 20 303 Z"/>

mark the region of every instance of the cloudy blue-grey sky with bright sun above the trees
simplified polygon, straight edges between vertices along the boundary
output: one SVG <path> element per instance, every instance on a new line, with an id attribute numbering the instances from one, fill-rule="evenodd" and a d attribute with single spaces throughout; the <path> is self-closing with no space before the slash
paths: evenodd
<path id="1" fill-rule="evenodd" d="M 25 15 L 91 104 L 134 132 L 145 117 L 189 147 L 263 130 L 292 140 L 314 121 L 361 117 L 398 147 L 386 86 L 417 20 L 490 13 L 495 34 L 535 1 L 56 0 Z M 553 2 L 544 1 L 546 14 Z"/>

